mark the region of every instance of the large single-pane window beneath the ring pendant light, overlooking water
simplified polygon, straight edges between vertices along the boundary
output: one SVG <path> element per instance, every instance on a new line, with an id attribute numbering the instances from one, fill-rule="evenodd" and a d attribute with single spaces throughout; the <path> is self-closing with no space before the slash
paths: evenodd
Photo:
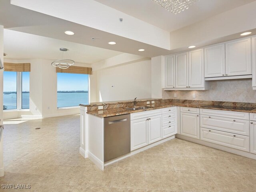
<path id="1" fill-rule="evenodd" d="M 57 73 L 57 107 L 88 104 L 88 74 Z"/>

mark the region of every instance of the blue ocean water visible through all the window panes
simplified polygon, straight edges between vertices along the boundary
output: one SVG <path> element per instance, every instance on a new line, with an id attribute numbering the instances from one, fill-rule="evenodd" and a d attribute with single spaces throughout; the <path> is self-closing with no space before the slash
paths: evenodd
<path id="1" fill-rule="evenodd" d="M 58 107 L 78 106 L 88 104 L 88 92 L 83 93 L 57 93 Z M 16 109 L 16 94 L 4 94 L 4 105 L 7 109 Z M 29 108 L 29 93 L 22 93 L 22 109 Z"/>

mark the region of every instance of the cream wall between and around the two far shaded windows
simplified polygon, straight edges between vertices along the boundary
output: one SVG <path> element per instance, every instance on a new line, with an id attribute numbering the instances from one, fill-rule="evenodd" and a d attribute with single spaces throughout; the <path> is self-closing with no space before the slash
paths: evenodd
<path id="1" fill-rule="evenodd" d="M 30 71 L 30 110 L 5 111 L 4 119 L 20 118 L 24 115 L 34 117 L 52 117 L 79 114 L 79 108 L 57 109 L 57 73 L 51 65 L 52 60 L 11 60 L 6 62 L 31 64 Z M 90 64 L 76 63 L 76 66 L 90 67 Z M 49 109 L 48 109 L 49 107 Z M 37 108 L 37 109 L 36 109 Z"/>

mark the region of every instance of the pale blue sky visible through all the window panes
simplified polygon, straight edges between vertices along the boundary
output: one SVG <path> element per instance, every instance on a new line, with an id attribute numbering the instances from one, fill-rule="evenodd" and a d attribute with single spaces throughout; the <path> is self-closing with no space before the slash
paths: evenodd
<path id="1" fill-rule="evenodd" d="M 16 72 L 4 72 L 4 92 L 16 92 Z M 88 91 L 88 75 L 57 73 L 58 91 Z M 22 72 L 22 91 L 29 91 L 29 72 Z"/>

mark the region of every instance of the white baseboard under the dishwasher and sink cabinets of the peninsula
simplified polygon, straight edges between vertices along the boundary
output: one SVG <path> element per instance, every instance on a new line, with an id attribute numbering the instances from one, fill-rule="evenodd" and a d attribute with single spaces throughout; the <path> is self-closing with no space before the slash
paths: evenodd
<path id="1" fill-rule="evenodd" d="M 114 159 L 114 160 L 110 160 L 110 161 L 104 163 L 104 166 L 110 165 L 110 164 L 112 164 L 112 163 L 114 163 L 114 162 L 120 161 L 120 160 L 122 160 L 122 159 L 124 159 L 124 158 L 130 157 L 130 156 L 132 156 L 132 155 L 135 155 L 135 154 L 137 154 L 137 153 L 139 153 L 139 152 L 142 152 L 142 151 L 144 151 L 144 150 L 147 150 L 147 149 L 149 149 L 149 148 L 152 148 L 152 147 L 154 147 L 154 146 L 157 146 L 157 145 L 159 145 L 159 144 L 161 144 L 161 143 L 164 143 L 164 142 L 166 142 L 166 141 L 168 141 L 168 140 L 171 140 L 171 139 L 174 139 L 174 138 L 175 138 L 175 135 L 174 135 L 174 136 L 170 136 L 170 137 L 168 137 L 168 138 L 165 138 L 165 139 L 163 139 L 163 140 L 157 141 L 157 142 L 152 143 L 152 144 L 150 144 L 150 145 L 144 146 L 144 147 L 142 147 L 142 148 L 136 149 L 136 150 L 134 150 L 134 151 L 131 151 L 129 154 L 126 154 L 126 155 L 124 155 L 124 156 L 118 157 L 118 158 L 116 158 L 116 159 Z"/>

